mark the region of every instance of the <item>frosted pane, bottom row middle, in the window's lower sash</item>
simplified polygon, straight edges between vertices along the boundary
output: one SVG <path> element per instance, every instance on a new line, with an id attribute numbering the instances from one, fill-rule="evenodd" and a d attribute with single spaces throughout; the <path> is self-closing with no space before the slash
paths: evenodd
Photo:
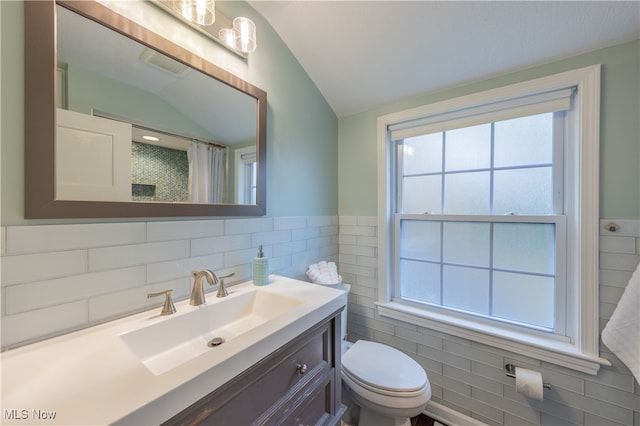
<path id="1" fill-rule="evenodd" d="M 488 315 L 490 302 L 489 271 L 445 266 L 443 272 L 443 305 Z"/>

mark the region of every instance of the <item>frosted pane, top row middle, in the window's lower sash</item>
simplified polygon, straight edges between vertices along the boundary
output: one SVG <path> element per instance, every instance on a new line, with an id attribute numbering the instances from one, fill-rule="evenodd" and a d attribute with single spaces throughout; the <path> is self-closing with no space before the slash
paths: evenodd
<path id="1" fill-rule="evenodd" d="M 443 261 L 465 265 L 489 266 L 489 224 L 445 222 Z"/>

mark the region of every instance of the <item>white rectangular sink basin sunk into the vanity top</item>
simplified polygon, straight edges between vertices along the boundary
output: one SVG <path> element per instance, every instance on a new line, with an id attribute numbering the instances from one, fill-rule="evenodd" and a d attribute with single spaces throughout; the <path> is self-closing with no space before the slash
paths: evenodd
<path id="1" fill-rule="evenodd" d="M 301 305 L 302 300 L 264 289 L 230 290 L 229 296 L 199 307 L 184 304 L 188 312 L 163 317 L 154 324 L 119 337 L 153 374 L 160 375 L 224 345 Z M 210 346 L 222 338 L 220 346 Z"/>

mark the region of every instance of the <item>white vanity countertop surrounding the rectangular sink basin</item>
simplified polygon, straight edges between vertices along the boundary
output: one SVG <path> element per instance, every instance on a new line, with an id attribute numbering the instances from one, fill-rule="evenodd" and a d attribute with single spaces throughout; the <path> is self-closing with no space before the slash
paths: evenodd
<path id="1" fill-rule="evenodd" d="M 342 291 L 276 275 L 267 286 L 248 282 L 229 287 L 229 293 L 251 289 L 282 292 L 304 303 L 260 326 L 259 334 L 251 331 L 225 343 L 224 350 L 160 375 L 152 374 L 119 338 L 171 318 L 160 317 L 159 308 L 2 353 L 0 423 L 160 424 L 346 302 Z M 208 296 L 207 305 L 220 300 Z M 198 309 L 188 300 L 175 305 L 177 314 Z"/>

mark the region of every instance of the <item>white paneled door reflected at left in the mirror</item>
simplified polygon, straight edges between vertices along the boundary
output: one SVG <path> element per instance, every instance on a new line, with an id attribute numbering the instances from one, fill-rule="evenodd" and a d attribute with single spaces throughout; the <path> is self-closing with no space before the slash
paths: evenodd
<path id="1" fill-rule="evenodd" d="M 56 199 L 131 201 L 131 124 L 57 110 Z"/>

